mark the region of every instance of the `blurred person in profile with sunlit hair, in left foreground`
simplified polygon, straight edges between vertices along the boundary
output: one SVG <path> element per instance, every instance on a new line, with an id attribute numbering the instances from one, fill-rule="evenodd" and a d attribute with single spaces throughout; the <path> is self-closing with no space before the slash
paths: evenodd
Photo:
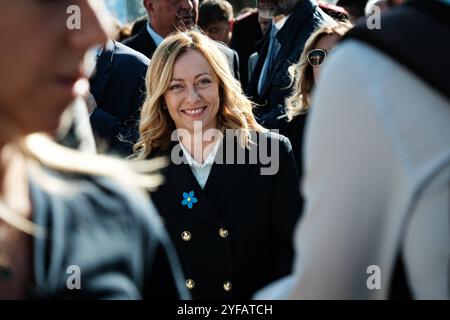
<path id="1" fill-rule="evenodd" d="M 159 290 L 147 280 L 163 247 L 189 297 L 138 188 L 156 187 L 157 177 L 51 139 L 87 88 L 85 52 L 106 41 L 91 3 L 71 3 L 82 13 L 79 30 L 67 27 L 66 2 L 0 2 L 8 43 L 0 50 L 0 299 L 142 299 Z"/>

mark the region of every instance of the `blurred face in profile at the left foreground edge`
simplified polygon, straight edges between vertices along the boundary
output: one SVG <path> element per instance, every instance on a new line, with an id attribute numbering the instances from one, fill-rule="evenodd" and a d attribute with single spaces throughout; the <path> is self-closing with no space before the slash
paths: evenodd
<path id="1" fill-rule="evenodd" d="M 81 24 L 71 30 L 78 11 Z M 0 1 L 0 41 L 0 117 L 26 134 L 57 128 L 86 50 L 106 35 L 90 0 L 14 0 Z"/>

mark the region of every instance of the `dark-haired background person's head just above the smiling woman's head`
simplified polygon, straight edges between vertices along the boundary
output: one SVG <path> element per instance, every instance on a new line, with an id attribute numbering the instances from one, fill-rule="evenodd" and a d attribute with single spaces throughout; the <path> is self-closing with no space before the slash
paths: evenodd
<path id="1" fill-rule="evenodd" d="M 198 26 L 213 40 L 230 45 L 233 6 L 226 0 L 205 0 L 198 7 Z"/>

